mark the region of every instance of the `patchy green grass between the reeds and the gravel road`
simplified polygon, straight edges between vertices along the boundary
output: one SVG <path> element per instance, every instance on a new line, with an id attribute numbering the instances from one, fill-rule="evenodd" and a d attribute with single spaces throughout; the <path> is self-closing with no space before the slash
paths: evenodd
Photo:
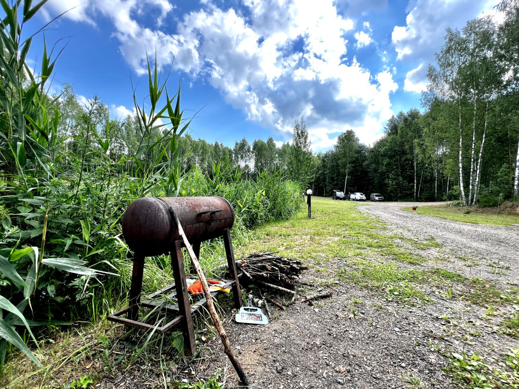
<path id="1" fill-rule="evenodd" d="M 441 247 L 432 237 L 418 240 L 390 234 L 383 223 L 361 213 L 358 203 L 312 200 L 312 219 L 304 207 L 292 220 L 256 228 L 248 241 L 236 247 L 237 257 L 279 251 L 282 256 L 304 260 L 328 283 L 346 281 L 406 303 L 430 301 L 425 285 L 445 289 L 448 295 L 453 283 L 463 290 L 457 298 L 478 305 L 506 302 L 503 296 L 511 301 L 517 298 L 503 295 L 484 280 L 436 267 L 413 268 L 429 261 L 420 255 L 421 250 Z"/>

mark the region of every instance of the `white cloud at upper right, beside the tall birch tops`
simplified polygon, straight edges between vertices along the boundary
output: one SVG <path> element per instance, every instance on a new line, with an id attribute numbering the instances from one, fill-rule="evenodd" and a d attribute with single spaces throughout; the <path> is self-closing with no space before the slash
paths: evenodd
<path id="1" fill-rule="evenodd" d="M 404 82 L 406 91 L 421 92 L 427 85 L 427 66 L 444 42 L 447 27 L 461 29 L 467 20 L 481 16 L 498 0 L 416 0 L 409 7 L 405 26 L 395 26 L 392 42 L 402 62 L 416 66 Z"/>

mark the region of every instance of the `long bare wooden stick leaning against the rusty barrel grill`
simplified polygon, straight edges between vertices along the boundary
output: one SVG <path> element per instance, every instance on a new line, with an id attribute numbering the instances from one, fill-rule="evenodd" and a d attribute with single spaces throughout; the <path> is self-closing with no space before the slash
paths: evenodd
<path id="1" fill-rule="evenodd" d="M 220 322 L 220 317 L 218 317 L 218 314 L 216 313 L 216 310 L 214 309 L 213 300 L 211 299 L 211 292 L 209 291 L 209 285 L 207 284 L 206 276 L 203 274 L 202 268 L 200 267 L 200 263 L 198 262 L 198 259 L 195 255 L 195 252 L 193 251 L 193 248 L 189 244 L 189 241 L 187 240 L 186 234 L 184 233 L 184 230 L 182 229 L 182 225 L 180 224 L 179 218 L 176 216 L 175 210 L 173 207 L 170 209 L 171 215 L 175 219 L 176 227 L 179 229 L 179 235 L 182 239 L 182 242 L 184 242 L 184 245 L 186 246 L 187 252 L 189 253 L 189 256 L 191 257 L 191 260 L 193 261 L 193 266 L 196 269 L 196 272 L 198 274 L 198 278 L 200 279 L 200 282 L 202 283 L 202 289 L 203 293 L 206 295 L 207 300 L 207 310 L 209 311 L 209 314 L 211 315 L 211 318 L 213 319 L 214 326 L 216 327 L 216 330 L 218 331 L 218 334 L 220 334 L 220 338 L 222 338 L 222 343 L 224 344 L 224 351 L 225 354 L 230 359 L 231 364 L 233 364 L 234 368 L 236 369 L 236 372 L 238 373 L 238 376 L 240 376 L 241 382 L 245 386 L 249 386 L 249 380 L 247 379 L 247 376 L 245 376 L 245 372 L 243 371 L 240 363 L 238 362 L 238 359 L 236 359 L 236 356 L 233 353 L 233 350 L 230 348 L 229 344 L 229 338 L 227 338 L 227 334 L 225 333 L 224 327 L 222 326 L 222 322 Z"/>

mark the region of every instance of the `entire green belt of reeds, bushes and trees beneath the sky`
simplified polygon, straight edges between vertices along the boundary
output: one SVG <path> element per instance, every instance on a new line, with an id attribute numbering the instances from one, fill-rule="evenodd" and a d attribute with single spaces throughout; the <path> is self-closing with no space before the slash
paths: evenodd
<path id="1" fill-rule="evenodd" d="M 422 107 L 390 118 L 373 145 L 346 130 L 319 154 L 304 117 L 280 147 L 273 138 L 243 138 L 233 148 L 196 140 L 181 87 L 168 89 L 153 58 L 146 103 L 134 94 L 136 115 L 124 120 L 112 119 L 97 96 L 82 106 L 70 84 L 51 95 L 59 53 L 45 45 L 35 75 L 26 61 L 34 36 L 23 34 L 45 0 L 1 3 L 0 369 L 17 350 L 39 364 L 27 346 L 37 348 L 33 329 L 94 323 L 127 299 L 131 253 L 120 218 L 134 199 L 225 197 L 239 241 L 247 229 L 293 217 L 306 188 L 461 205 L 519 195 L 517 1 L 499 5 L 499 23 L 485 17 L 447 30 Z M 215 250 L 202 247 L 210 259 Z M 149 263 L 148 287 L 172 277 L 164 263 Z"/>

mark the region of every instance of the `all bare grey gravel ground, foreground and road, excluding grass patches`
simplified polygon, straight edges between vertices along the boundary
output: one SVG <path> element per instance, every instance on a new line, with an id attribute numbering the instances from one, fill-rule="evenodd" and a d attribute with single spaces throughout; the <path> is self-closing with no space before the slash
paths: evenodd
<path id="1" fill-rule="evenodd" d="M 404 235 L 418 240 L 433 237 L 443 244 L 421 255 L 432 258 L 441 253 L 447 260 L 440 264 L 431 260 L 416 267 L 402 264 L 402 268 L 441 267 L 468 277 L 494 280 L 503 288 L 510 287 L 507 281 L 517 281 L 517 229 L 469 225 L 401 211 L 401 207 L 408 206 L 405 203 L 359 205 L 360 211 L 387 223 L 397 241 Z M 491 261 L 499 262 L 500 267 L 487 266 Z M 231 344 L 253 387 L 471 387 L 460 385 L 454 373 L 445 370 L 452 366 L 453 352 L 466 352 L 468 356 L 475 352 L 488 366 L 506 369 L 502 359 L 508 346 L 519 348 L 519 342 L 502 335 L 500 329 L 503 317 L 516 312 L 511 305 L 493 307 L 488 314 L 484 304 L 472 304 L 463 296 L 442 297 L 449 288 L 453 288 L 449 293 L 454 290 L 455 295 L 470 292 L 453 282 L 446 289 L 425 287 L 430 302 L 413 306 L 337 281 L 334 275 L 341 269 L 355 268 L 347 259 L 336 258 L 304 275 L 305 282 L 328 282 L 330 286 L 322 289 L 333 290 L 331 300 L 315 305 L 301 302 L 306 293 L 321 290 L 303 287 L 296 303 L 277 313 L 268 326 L 237 324 L 232 315 L 227 318 Z M 213 345 L 216 349 L 204 362 L 205 371 L 223 367 L 226 387 L 239 385 L 217 341 Z M 481 371 L 485 374 L 486 370 Z"/>

